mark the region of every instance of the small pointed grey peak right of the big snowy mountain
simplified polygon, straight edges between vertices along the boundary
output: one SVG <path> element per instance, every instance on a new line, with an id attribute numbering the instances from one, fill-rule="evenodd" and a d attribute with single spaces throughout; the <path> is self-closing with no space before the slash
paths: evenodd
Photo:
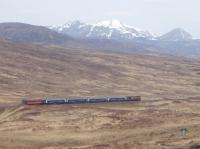
<path id="1" fill-rule="evenodd" d="M 176 28 L 159 37 L 160 40 L 165 41 L 188 41 L 192 40 L 192 35 L 186 32 L 184 29 Z"/>

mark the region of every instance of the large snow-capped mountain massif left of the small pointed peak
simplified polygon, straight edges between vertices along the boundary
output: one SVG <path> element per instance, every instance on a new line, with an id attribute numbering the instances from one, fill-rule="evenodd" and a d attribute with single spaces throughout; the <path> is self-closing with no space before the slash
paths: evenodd
<path id="1" fill-rule="evenodd" d="M 61 26 L 52 26 L 50 29 L 76 38 L 114 40 L 155 39 L 150 32 L 125 25 L 118 20 L 106 20 L 96 24 L 71 21 Z"/>

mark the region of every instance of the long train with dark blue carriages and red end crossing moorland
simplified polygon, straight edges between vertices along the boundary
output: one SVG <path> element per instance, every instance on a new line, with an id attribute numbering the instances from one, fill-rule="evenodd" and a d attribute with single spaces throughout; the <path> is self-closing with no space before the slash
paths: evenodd
<path id="1" fill-rule="evenodd" d="M 63 98 L 63 99 L 34 99 L 23 100 L 27 105 L 72 104 L 72 103 L 100 103 L 100 102 L 125 102 L 141 101 L 140 96 L 117 96 L 103 98 Z"/>

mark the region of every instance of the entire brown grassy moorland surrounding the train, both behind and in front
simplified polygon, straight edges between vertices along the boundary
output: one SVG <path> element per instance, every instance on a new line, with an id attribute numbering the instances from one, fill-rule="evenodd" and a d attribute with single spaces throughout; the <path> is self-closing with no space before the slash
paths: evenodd
<path id="1" fill-rule="evenodd" d="M 199 61 L 0 42 L 0 148 L 191 148 Z M 23 106 L 21 99 L 141 95 L 140 103 Z M 189 131 L 185 136 L 181 128 Z"/>

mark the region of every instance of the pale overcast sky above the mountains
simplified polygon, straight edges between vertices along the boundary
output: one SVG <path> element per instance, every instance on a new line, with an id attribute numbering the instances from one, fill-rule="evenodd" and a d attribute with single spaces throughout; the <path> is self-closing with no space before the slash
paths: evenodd
<path id="1" fill-rule="evenodd" d="M 157 35 L 183 28 L 200 38 L 200 0 L 0 0 L 0 22 L 50 26 L 110 19 Z"/>

